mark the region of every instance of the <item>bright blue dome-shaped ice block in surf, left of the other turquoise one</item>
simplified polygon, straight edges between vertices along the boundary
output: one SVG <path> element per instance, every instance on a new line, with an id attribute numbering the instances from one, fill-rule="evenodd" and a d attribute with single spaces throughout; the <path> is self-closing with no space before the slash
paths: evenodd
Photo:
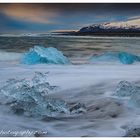
<path id="1" fill-rule="evenodd" d="M 22 57 L 21 63 L 23 64 L 68 64 L 70 61 L 61 51 L 56 48 L 43 46 L 34 46 L 29 52 L 25 53 Z"/>

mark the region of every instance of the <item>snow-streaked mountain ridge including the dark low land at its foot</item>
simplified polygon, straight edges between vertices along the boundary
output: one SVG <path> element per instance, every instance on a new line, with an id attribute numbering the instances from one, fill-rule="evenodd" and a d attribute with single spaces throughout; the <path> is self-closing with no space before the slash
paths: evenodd
<path id="1" fill-rule="evenodd" d="M 68 34 L 68 33 L 67 33 Z M 140 18 L 82 27 L 70 35 L 140 36 Z"/>

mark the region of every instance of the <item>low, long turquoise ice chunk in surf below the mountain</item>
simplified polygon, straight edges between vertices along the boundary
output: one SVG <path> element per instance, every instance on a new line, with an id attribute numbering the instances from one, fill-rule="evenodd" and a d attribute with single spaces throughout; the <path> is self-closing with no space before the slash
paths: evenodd
<path id="1" fill-rule="evenodd" d="M 127 52 L 106 52 L 101 55 L 94 55 L 90 58 L 91 62 L 121 62 L 122 64 L 132 64 L 140 61 L 140 57 Z"/>

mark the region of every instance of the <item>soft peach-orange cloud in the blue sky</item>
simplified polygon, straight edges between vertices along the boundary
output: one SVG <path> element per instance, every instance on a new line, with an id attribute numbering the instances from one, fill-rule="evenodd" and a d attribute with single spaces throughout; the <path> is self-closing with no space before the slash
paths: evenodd
<path id="1" fill-rule="evenodd" d="M 59 11 L 33 4 L 8 4 L 1 8 L 1 12 L 13 19 L 43 24 L 55 23 L 53 18 L 59 16 Z"/>

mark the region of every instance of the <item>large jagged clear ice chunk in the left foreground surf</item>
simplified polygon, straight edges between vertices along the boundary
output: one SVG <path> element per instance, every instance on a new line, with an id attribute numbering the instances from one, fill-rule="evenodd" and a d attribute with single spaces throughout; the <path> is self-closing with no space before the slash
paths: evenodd
<path id="1" fill-rule="evenodd" d="M 49 96 L 56 90 L 47 81 L 47 73 L 36 72 L 31 81 L 9 79 L 0 89 L 1 103 L 10 105 L 16 114 L 34 117 L 55 117 L 59 113 L 73 114 L 85 111 L 82 104 L 69 104 Z"/>

